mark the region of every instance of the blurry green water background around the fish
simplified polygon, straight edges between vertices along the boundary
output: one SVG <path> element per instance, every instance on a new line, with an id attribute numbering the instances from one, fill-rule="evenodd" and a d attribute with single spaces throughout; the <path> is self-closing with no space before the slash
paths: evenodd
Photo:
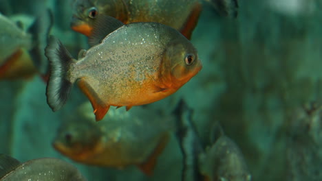
<path id="1" fill-rule="evenodd" d="M 69 27 L 71 3 L 0 0 L 0 12 L 34 17 L 50 8 L 50 34 L 76 57 L 89 47 L 87 38 Z M 148 108 L 171 114 L 183 98 L 205 142 L 219 121 L 241 149 L 252 180 L 322 180 L 322 1 L 239 1 L 235 19 L 219 16 L 210 5 L 202 8 L 191 37 L 202 71 Z M 75 110 L 88 99 L 74 86 L 67 104 L 52 112 L 45 90 L 37 75 L 0 81 L 0 153 L 21 162 L 60 158 L 87 180 L 181 180 L 182 153 L 174 132 L 152 176 L 135 166 L 98 167 L 63 156 L 52 147 L 58 127 L 71 116 L 81 117 Z"/>

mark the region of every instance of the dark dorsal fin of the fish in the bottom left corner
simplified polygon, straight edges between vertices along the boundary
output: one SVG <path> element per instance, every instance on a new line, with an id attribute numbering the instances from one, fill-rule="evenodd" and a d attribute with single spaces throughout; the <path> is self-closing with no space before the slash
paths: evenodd
<path id="1" fill-rule="evenodd" d="M 0 179 L 6 176 L 10 171 L 16 169 L 20 162 L 5 154 L 0 154 Z"/>

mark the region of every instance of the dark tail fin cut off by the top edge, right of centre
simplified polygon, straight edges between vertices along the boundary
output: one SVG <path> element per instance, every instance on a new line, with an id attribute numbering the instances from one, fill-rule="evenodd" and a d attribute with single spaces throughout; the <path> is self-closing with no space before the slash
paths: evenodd
<path id="1" fill-rule="evenodd" d="M 220 16 L 236 18 L 238 15 L 238 0 L 204 0 L 213 6 Z"/>

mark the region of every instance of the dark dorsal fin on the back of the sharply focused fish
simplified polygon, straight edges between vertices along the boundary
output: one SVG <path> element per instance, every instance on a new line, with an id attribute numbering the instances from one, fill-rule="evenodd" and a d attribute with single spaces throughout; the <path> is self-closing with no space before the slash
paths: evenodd
<path id="1" fill-rule="evenodd" d="M 92 34 L 88 38 L 89 45 L 93 47 L 94 45 L 100 44 L 105 36 L 123 25 L 124 23 L 118 21 L 118 19 L 114 19 L 114 17 L 100 14 L 95 19 Z"/>

